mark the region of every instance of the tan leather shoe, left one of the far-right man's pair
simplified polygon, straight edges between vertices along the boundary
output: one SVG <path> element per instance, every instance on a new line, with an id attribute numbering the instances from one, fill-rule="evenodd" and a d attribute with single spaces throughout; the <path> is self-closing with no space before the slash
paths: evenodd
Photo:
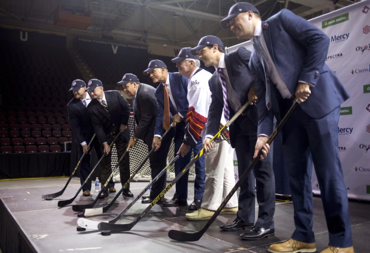
<path id="1" fill-rule="evenodd" d="M 290 238 L 284 243 L 270 245 L 268 251 L 271 253 L 310 253 L 316 252 L 316 243 L 303 243 Z"/>

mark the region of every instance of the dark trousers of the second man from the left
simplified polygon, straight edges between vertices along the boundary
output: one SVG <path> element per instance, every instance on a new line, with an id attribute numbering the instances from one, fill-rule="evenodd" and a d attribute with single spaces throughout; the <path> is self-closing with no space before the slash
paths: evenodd
<path id="1" fill-rule="evenodd" d="M 113 137 L 114 138 L 114 137 Z M 112 138 L 112 140 L 113 140 Z M 119 158 L 124 154 L 126 148 L 127 148 L 127 143 L 124 142 L 122 139 L 117 138 L 115 141 L 115 148 L 117 149 L 117 158 Z M 103 153 L 103 145 L 101 145 L 101 150 Z M 109 176 L 111 175 L 112 169 L 111 169 L 111 152 L 103 157 L 101 161 L 101 166 L 102 166 L 102 185 L 105 184 Z M 130 156 L 129 152 L 126 153 L 126 155 L 123 157 L 121 162 L 118 164 L 119 167 L 119 177 L 122 186 L 126 183 L 126 181 L 130 178 Z M 113 187 L 111 185 L 111 182 L 109 183 L 109 187 Z M 130 184 L 127 185 L 126 189 L 130 188 Z"/>

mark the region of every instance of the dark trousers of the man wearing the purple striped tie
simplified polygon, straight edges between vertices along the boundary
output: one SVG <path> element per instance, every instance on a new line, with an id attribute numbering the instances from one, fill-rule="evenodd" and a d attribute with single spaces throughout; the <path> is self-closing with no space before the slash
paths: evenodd
<path id="1" fill-rule="evenodd" d="M 235 152 L 238 173 L 241 176 L 253 159 L 257 141 L 257 127 L 246 117 L 239 116 L 235 130 Z M 275 179 L 272 168 L 272 150 L 263 161 L 259 161 L 240 185 L 237 217 L 244 222 L 255 222 L 255 202 L 259 205 L 255 223 L 265 229 L 274 228 Z"/>

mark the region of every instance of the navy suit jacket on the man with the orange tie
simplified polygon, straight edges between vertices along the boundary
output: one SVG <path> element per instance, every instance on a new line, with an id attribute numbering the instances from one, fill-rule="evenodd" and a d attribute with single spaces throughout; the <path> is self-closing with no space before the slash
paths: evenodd
<path id="1" fill-rule="evenodd" d="M 189 104 L 187 102 L 187 82 L 188 79 L 179 74 L 178 72 L 175 73 L 168 73 L 170 76 L 170 88 L 171 93 L 174 98 L 175 104 L 179 110 L 179 113 L 186 117 L 187 108 Z M 158 114 L 155 120 L 155 128 L 154 128 L 154 135 L 162 135 L 163 133 L 163 97 L 164 97 L 164 87 L 162 84 L 155 89 L 155 97 L 158 102 Z M 175 108 L 172 105 L 171 99 L 170 101 L 170 112 L 172 115 L 176 114 Z"/>

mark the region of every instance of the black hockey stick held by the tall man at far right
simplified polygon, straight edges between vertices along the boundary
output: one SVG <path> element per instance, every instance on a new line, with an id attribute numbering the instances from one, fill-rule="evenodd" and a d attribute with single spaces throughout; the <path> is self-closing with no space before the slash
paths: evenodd
<path id="1" fill-rule="evenodd" d="M 274 132 L 271 134 L 271 136 L 267 140 L 267 144 L 271 144 L 271 142 L 276 137 L 277 133 L 281 130 L 287 119 L 292 115 L 293 111 L 297 107 L 298 102 L 295 100 L 292 107 L 288 110 L 288 112 L 285 114 L 284 118 L 279 122 Z M 246 179 L 250 171 L 255 167 L 257 162 L 259 161 L 259 157 L 262 153 L 262 150 L 259 151 L 259 154 L 256 158 L 252 160 L 248 168 L 243 172 L 243 174 L 240 176 L 237 183 L 235 183 L 235 186 L 230 190 L 229 194 L 224 198 L 222 201 L 220 207 L 215 211 L 213 216 L 208 220 L 207 224 L 198 232 L 195 233 L 187 233 L 184 231 L 178 231 L 178 230 L 170 230 L 168 232 L 168 237 L 170 237 L 173 240 L 180 241 L 180 242 L 194 242 L 198 241 L 203 234 L 206 232 L 206 230 L 210 227 L 212 222 L 216 219 L 216 217 L 221 213 L 222 208 L 227 204 L 227 202 L 230 200 L 232 195 L 236 192 L 236 190 L 239 188 L 240 184 Z"/>

